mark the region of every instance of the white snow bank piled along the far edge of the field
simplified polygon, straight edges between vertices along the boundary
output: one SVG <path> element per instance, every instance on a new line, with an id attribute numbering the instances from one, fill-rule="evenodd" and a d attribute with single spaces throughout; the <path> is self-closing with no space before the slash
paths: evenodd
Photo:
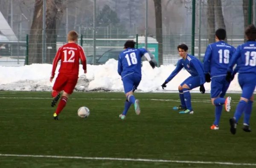
<path id="1" fill-rule="evenodd" d="M 56 70 L 55 78 L 58 74 Z M 32 64 L 18 67 L 0 66 L 0 90 L 9 91 L 51 91 L 52 83 L 49 82 L 51 64 Z M 142 81 L 138 87 L 141 92 L 177 91 L 178 85 L 183 82 L 189 73 L 181 70 L 176 77 L 167 84 L 165 90 L 161 85 L 175 69 L 174 65 L 162 65 L 152 69 L 148 62 L 143 62 Z M 204 84 L 210 91 L 210 83 Z M 80 65 L 79 82 L 76 91 L 123 91 L 122 80 L 117 73 L 117 61 L 108 60 L 104 65 L 87 65 L 87 74 L 83 74 Z M 195 88 L 193 91 L 199 91 Z M 230 84 L 230 92 L 239 92 L 237 75 Z"/>

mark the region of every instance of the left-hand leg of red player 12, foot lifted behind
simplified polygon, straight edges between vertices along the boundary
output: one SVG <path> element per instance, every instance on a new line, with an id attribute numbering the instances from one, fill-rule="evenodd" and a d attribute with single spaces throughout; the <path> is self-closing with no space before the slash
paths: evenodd
<path id="1" fill-rule="evenodd" d="M 51 106 L 54 107 L 59 98 L 61 97 L 60 92 L 64 89 L 64 86 L 67 83 L 67 77 L 64 74 L 58 74 L 58 77 L 55 80 L 55 83 L 52 87 L 52 102 Z"/>

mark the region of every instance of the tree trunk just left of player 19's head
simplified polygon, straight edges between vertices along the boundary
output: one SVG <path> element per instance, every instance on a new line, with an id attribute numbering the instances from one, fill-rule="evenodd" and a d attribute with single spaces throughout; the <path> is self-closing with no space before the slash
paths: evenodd
<path id="1" fill-rule="evenodd" d="M 215 14 L 214 14 L 214 1 L 207 0 L 207 34 L 208 43 L 215 42 Z"/>

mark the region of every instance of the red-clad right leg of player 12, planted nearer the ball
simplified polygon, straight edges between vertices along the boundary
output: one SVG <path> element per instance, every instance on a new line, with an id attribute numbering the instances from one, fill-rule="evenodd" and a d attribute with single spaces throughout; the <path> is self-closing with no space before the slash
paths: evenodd
<path id="1" fill-rule="evenodd" d="M 58 107 L 57 107 L 55 113 L 53 114 L 53 118 L 55 120 L 58 120 L 58 115 L 61 113 L 63 108 L 66 106 L 67 100 L 70 97 L 70 95 L 73 93 L 73 90 L 76 86 L 77 80 L 78 80 L 77 77 L 69 77 L 68 78 L 67 83 L 64 86 L 64 92 L 61 96 L 60 103 L 58 103 Z"/>

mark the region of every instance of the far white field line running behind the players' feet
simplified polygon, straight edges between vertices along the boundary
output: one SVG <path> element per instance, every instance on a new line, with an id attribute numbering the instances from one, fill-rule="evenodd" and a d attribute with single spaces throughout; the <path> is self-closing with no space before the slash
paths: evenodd
<path id="1" fill-rule="evenodd" d="M 0 99 L 52 99 L 47 97 L 0 97 Z M 106 99 L 106 98 L 70 98 L 74 100 L 124 100 L 124 99 Z M 180 100 L 173 99 L 140 99 L 140 100 L 153 100 L 153 101 L 167 101 L 167 102 L 180 102 Z M 211 103 L 211 100 L 192 100 L 193 103 Z M 231 102 L 239 103 L 239 102 Z"/>

